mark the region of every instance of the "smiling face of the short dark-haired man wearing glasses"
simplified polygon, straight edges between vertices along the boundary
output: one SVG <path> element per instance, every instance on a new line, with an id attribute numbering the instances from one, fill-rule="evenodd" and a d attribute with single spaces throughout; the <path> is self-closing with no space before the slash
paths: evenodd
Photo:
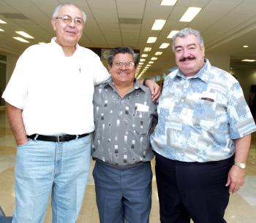
<path id="1" fill-rule="evenodd" d="M 124 63 L 127 63 L 125 65 Z M 110 74 L 115 85 L 128 86 L 133 85 L 135 78 L 135 63 L 131 54 L 118 53 L 113 58 L 112 66 L 109 66 Z"/>

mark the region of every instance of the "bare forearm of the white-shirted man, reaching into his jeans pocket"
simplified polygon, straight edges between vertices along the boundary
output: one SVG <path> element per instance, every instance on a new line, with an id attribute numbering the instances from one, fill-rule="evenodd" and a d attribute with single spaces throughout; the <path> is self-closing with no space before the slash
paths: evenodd
<path id="1" fill-rule="evenodd" d="M 22 110 L 7 103 L 7 117 L 10 122 L 12 133 L 18 145 L 26 143 L 26 130 L 22 119 Z"/>

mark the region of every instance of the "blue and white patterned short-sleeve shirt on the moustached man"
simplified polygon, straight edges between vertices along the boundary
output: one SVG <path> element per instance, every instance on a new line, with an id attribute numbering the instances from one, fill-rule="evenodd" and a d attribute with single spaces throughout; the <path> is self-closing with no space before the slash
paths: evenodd
<path id="1" fill-rule="evenodd" d="M 166 77 L 157 113 L 151 146 L 170 160 L 225 160 L 234 139 L 256 130 L 238 81 L 208 60 L 193 77 L 178 69 Z"/>

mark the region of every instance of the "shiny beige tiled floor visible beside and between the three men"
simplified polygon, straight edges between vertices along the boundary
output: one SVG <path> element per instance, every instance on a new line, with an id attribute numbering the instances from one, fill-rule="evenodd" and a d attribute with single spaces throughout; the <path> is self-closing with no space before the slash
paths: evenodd
<path id="1" fill-rule="evenodd" d="M 12 215 L 14 209 L 14 164 L 15 164 L 15 140 L 12 130 L 7 122 L 4 110 L 0 110 L 0 205 L 7 216 Z M 91 170 L 94 162 L 91 161 Z M 154 161 L 152 162 L 154 166 Z M 255 223 L 256 222 L 256 134 L 252 136 L 252 146 L 247 160 L 246 184 L 238 193 L 230 196 L 230 204 L 227 208 L 225 219 L 228 223 Z M 154 168 L 153 168 L 154 170 Z M 45 217 L 45 222 L 51 222 L 50 205 Z M 86 195 L 83 200 L 83 208 L 80 211 L 78 223 L 98 223 L 99 216 L 95 203 L 94 181 L 90 175 Z M 153 179 L 151 223 L 159 222 L 159 206 L 157 186 Z"/>

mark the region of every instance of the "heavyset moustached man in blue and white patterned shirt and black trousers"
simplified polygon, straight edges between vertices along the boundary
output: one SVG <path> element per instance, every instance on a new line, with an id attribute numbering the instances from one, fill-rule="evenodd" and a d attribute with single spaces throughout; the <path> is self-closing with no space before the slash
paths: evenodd
<path id="1" fill-rule="evenodd" d="M 237 80 L 204 58 L 198 31 L 179 31 L 173 51 L 178 69 L 165 79 L 151 136 L 160 219 L 222 223 L 244 184 L 255 122 Z"/>

